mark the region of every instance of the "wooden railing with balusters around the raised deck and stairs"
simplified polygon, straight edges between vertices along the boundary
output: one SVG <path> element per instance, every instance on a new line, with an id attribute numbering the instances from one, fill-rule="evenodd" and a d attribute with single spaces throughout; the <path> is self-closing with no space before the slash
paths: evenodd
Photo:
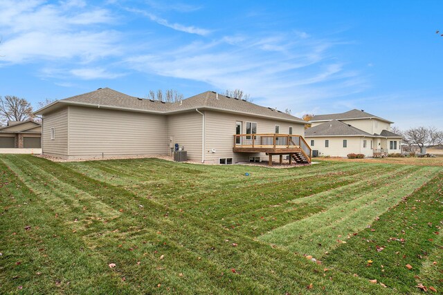
<path id="1" fill-rule="evenodd" d="M 234 147 L 264 149 L 301 149 L 305 157 L 311 158 L 311 148 L 301 135 L 280 133 L 257 133 L 234 135 Z"/>

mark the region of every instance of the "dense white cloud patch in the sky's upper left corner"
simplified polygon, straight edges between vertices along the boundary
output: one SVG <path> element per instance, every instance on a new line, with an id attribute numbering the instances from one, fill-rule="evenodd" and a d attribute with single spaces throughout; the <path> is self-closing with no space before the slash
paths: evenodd
<path id="1" fill-rule="evenodd" d="M 47 4 L 44 1 L 1 1 L 3 33 L 1 64 L 42 60 L 93 59 L 120 54 L 120 35 L 96 28 L 113 21 L 102 8 L 85 8 L 84 1 Z"/>

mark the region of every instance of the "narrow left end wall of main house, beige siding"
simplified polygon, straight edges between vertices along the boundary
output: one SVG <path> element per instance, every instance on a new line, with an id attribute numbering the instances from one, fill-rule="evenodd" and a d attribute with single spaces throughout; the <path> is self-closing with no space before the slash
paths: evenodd
<path id="1" fill-rule="evenodd" d="M 51 128 L 55 139 L 51 140 Z M 68 157 L 68 108 L 43 116 L 42 148 L 44 155 Z"/>

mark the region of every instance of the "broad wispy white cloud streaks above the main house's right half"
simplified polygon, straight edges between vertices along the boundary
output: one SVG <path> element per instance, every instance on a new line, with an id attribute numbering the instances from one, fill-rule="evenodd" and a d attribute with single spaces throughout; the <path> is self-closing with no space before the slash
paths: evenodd
<path id="1" fill-rule="evenodd" d="M 280 109 L 312 109 L 316 99 L 359 93 L 367 86 L 329 52 L 332 41 L 273 34 L 222 37 L 174 50 L 129 57 L 132 68 L 165 77 L 241 88 L 255 101 Z"/>

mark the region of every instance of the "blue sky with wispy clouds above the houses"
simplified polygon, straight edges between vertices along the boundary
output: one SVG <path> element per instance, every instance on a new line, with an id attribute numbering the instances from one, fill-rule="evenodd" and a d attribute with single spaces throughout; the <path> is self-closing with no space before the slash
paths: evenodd
<path id="1" fill-rule="evenodd" d="M 241 88 L 297 116 L 443 129 L 442 16 L 441 1 L 0 0 L 0 95 Z"/>

